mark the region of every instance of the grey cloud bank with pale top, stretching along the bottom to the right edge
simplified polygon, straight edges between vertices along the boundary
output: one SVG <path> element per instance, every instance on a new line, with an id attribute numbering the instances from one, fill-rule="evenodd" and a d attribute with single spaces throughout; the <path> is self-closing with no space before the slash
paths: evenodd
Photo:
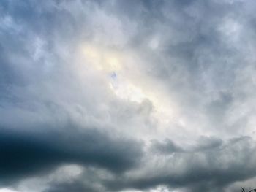
<path id="1" fill-rule="evenodd" d="M 205 143 L 205 139 L 200 139 L 198 145 Z M 56 183 L 46 191 L 69 191 L 80 188 L 78 191 L 100 191 L 95 188 L 95 183 L 103 186 L 104 191 L 121 191 L 124 189 L 148 191 L 158 185 L 167 188 L 184 188 L 184 191 L 225 191 L 225 187 L 238 180 L 246 180 L 255 176 L 255 142 L 252 138 L 241 137 L 230 139 L 219 147 L 211 147 L 208 150 L 198 150 L 195 147 L 192 151 L 180 153 L 162 154 L 158 158 L 165 158 L 165 172 L 157 170 L 157 164 L 151 164 L 153 172 L 144 172 L 140 177 L 129 177 L 118 175 L 112 180 L 95 177 L 93 184 L 84 183 L 89 179 L 89 175 L 83 175 L 82 179 L 72 183 Z M 162 150 L 162 149 L 160 149 Z M 159 154 L 158 154 L 159 155 Z M 246 165 L 244 161 L 246 159 Z M 145 162 L 143 162 L 144 164 Z M 168 164 L 176 164 L 170 169 Z M 182 166 L 179 166 L 182 164 Z M 164 167 L 165 167 L 164 166 Z M 167 168 L 168 167 L 168 168 Z M 238 189 L 237 189 L 238 190 Z"/>

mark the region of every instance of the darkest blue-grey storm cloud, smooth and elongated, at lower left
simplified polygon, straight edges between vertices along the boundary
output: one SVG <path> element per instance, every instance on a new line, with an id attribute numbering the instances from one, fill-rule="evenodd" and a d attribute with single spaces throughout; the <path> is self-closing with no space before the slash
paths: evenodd
<path id="1" fill-rule="evenodd" d="M 95 129 L 72 126 L 59 131 L 47 127 L 35 129 L 1 128 L 1 184 L 49 173 L 61 164 L 98 166 L 110 172 L 124 172 L 136 166 L 142 155 L 139 142 L 116 139 Z"/>

